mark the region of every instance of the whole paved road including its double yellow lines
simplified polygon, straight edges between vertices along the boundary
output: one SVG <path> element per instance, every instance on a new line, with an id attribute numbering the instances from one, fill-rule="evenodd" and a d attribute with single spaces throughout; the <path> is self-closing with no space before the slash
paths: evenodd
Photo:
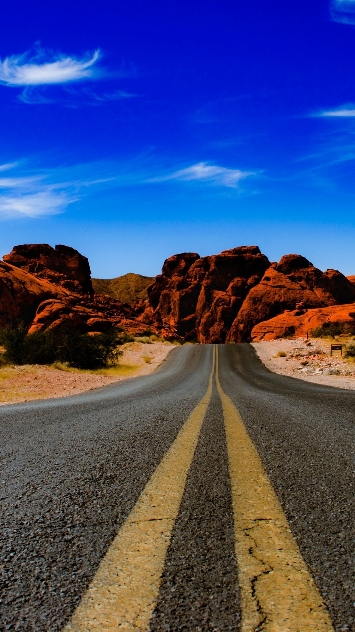
<path id="1" fill-rule="evenodd" d="M 355 630 L 354 414 L 247 344 L 4 406 L 0 629 Z"/>

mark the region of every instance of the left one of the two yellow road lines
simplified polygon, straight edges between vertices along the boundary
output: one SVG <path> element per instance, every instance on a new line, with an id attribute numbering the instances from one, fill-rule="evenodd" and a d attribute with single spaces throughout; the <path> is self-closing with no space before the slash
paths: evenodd
<path id="1" fill-rule="evenodd" d="M 215 348 L 205 396 L 145 486 L 63 632 L 148 629 L 172 528 L 210 403 L 214 368 Z"/>

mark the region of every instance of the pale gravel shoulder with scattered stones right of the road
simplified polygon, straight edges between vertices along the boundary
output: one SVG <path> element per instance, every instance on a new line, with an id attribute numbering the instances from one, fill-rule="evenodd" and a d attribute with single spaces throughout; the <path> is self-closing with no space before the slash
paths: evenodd
<path id="1" fill-rule="evenodd" d="M 330 345 L 337 342 L 319 338 L 282 338 L 251 344 L 265 367 L 273 373 L 355 390 L 355 363 L 342 358 L 339 351 L 330 355 Z M 280 352 L 286 356 L 278 356 Z"/>

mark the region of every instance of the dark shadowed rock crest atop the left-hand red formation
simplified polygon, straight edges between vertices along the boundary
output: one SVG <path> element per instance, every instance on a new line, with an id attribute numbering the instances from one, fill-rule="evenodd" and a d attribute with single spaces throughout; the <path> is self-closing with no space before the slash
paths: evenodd
<path id="1" fill-rule="evenodd" d="M 87 257 L 69 246 L 47 243 L 15 246 L 4 261 L 39 279 L 45 279 L 75 293 L 93 294 Z"/>

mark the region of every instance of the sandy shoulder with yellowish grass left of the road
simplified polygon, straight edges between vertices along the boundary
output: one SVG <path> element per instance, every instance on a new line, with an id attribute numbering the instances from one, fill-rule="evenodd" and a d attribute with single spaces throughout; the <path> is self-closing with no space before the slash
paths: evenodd
<path id="1" fill-rule="evenodd" d="M 148 375 L 165 360 L 174 344 L 126 343 L 119 365 L 100 371 L 59 370 L 44 365 L 0 368 L 0 406 L 33 399 L 62 398 L 113 382 Z"/>

